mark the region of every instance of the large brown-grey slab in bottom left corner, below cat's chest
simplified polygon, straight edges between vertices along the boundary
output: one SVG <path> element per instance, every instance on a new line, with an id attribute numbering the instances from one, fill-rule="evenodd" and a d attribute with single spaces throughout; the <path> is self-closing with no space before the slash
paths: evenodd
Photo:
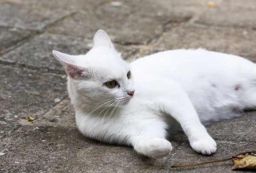
<path id="1" fill-rule="evenodd" d="M 3 172 L 157 172 L 168 159 L 148 159 L 68 127 L 24 126 L 3 142 Z"/>

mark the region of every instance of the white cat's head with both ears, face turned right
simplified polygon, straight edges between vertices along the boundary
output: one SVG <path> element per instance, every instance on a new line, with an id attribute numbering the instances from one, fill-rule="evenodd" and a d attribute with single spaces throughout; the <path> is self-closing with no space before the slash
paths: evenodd
<path id="1" fill-rule="evenodd" d="M 121 58 L 105 31 L 96 32 L 93 48 L 86 55 L 67 55 L 55 50 L 52 53 L 68 75 L 68 91 L 75 106 L 120 106 L 133 97 L 130 65 Z"/>

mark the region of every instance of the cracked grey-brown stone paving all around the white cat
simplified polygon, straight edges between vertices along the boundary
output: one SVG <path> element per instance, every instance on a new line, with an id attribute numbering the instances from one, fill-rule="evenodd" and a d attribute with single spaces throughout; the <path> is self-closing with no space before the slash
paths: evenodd
<path id="1" fill-rule="evenodd" d="M 201 47 L 256 62 L 256 3 L 214 2 L 215 8 L 208 0 L 0 0 L 0 172 L 232 172 L 232 161 L 171 166 L 256 150 L 255 111 L 207 126 L 218 144 L 212 156 L 193 151 L 178 133 L 169 139 L 169 157 L 148 159 L 79 133 L 66 75 L 51 55 L 86 53 L 105 29 L 128 61 Z"/>

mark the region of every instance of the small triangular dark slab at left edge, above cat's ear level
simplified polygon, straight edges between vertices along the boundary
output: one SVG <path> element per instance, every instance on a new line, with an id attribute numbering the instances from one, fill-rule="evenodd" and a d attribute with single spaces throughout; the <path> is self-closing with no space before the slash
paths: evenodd
<path id="1" fill-rule="evenodd" d="M 19 41 L 28 38 L 34 32 L 24 29 L 0 27 L 0 33 L 0 52 L 2 52 L 4 49 L 14 46 Z"/>

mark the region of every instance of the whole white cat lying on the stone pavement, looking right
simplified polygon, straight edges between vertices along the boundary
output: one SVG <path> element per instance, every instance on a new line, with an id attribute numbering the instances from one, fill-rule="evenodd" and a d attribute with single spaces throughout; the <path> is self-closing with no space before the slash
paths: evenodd
<path id="1" fill-rule="evenodd" d="M 179 49 L 127 63 L 103 30 L 93 43 L 86 55 L 53 51 L 87 137 L 162 158 L 172 150 L 167 130 L 181 126 L 191 147 L 209 155 L 216 143 L 202 124 L 256 107 L 256 64 L 239 56 Z"/>

